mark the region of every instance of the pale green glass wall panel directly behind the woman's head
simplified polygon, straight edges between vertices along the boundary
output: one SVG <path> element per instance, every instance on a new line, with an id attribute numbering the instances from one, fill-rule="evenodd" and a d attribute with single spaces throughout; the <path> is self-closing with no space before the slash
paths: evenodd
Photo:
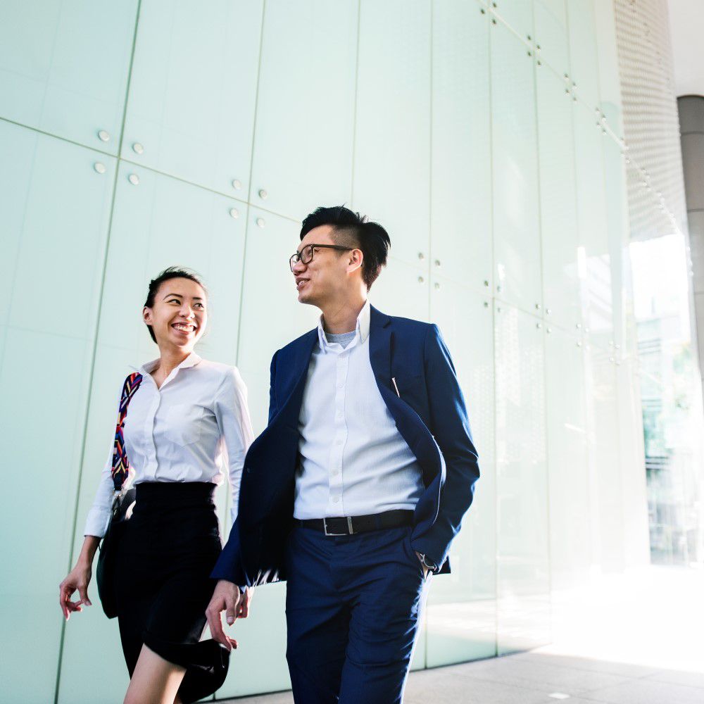
<path id="1" fill-rule="evenodd" d="M 139 176 L 138 185 L 127 180 L 130 173 Z M 149 280 L 169 265 L 199 272 L 208 287 L 209 321 L 196 351 L 206 359 L 228 364 L 237 359 L 246 210 L 232 218 L 230 209 L 239 206 L 212 191 L 145 168 L 121 165 L 101 300 L 74 555 L 82 544 L 85 517 L 111 452 L 122 382 L 132 367 L 158 357 L 158 348 L 142 322 Z M 225 479 L 216 495 L 221 521 L 229 494 Z M 126 686 L 127 669 L 117 629 L 103 617 L 94 585 L 91 594 L 95 608 L 73 617 L 66 631 L 60 700 L 67 704 L 96 700 L 96 692 L 110 701 Z"/>

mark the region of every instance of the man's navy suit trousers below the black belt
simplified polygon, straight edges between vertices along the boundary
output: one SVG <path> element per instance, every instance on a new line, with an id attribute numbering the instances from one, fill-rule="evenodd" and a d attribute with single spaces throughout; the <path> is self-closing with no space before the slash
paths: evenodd
<path id="1" fill-rule="evenodd" d="M 296 704 L 403 699 L 425 586 L 410 530 L 292 530 L 286 658 Z"/>

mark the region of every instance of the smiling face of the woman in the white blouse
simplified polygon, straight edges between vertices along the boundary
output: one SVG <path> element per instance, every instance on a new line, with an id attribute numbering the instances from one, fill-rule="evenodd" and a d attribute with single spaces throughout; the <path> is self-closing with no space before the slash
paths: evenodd
<path id="1" fill-rule="evenodd" d="M 206 292 L 191 279 L 168 279 L 154 296 L 154 305 L 144 306 L 142 317 L 151 325 L 160 348 L 176 347 L 191 352 L 206 329 Z"/>

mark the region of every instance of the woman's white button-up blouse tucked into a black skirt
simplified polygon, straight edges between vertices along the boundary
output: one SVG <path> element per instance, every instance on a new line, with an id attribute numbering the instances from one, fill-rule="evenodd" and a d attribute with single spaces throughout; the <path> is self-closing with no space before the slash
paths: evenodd
<path id="1" fill-rule="evenodd" d="M 127 482 L 219 485 L 227 467 L 234 523 L 244 456 L 253 440 L 242 377 L 237 367 L 191 353 L 158 389 L 150 374 L 157 363 L 154 360 L 139 369 L 142 383 L 127 408 L 123 429 L 130 461 Z M 84 535 L 102 537 L 108 528 L 114 491 L 112 466 L 111 445 Z"/>

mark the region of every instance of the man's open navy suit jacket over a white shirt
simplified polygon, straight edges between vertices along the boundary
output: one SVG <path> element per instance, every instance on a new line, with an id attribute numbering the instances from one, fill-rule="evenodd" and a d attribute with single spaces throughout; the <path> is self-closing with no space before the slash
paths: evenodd
<path id="1" fill-rule="evenodd" d="M 239 513 L 211 574 L 215 579 L 240 586 L 286 579 L 298 417 L 316 344 L 318 330 L 313 329 L 272 359 L 268 426 L 244 460 Z M 450 543 L 479 478 L 477 451 L 450 353 L 436 325 L 393 318 L 372 306 L 369 358 L 386 408 L 422 468 L 425 492 L 415 508 L 411 544 L 441 566 L 441 572 L 449 572 Z"/>

